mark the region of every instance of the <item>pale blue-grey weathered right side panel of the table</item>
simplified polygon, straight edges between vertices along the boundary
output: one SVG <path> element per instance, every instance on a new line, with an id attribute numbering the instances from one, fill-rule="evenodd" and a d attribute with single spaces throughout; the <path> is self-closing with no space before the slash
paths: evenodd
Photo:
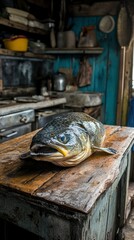
<path id="1" fill-rule="evenodd" d="M 92 214 L 87 216 L 83 239 L 115 239 L 118 229 L 117 218 L 117 181 L 96 201 Z M 120 204 L 120 202 L 119 202 Z M 89 227 L 90 226 L 90 227 Z M 86 231 L 87 230 L 87 231 Z M 87 237 L 87 238 L 86 238 Z"/>

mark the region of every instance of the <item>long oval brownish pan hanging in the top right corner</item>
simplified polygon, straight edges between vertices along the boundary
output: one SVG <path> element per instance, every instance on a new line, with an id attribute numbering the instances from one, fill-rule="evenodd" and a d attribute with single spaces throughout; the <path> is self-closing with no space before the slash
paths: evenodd
<path id="1" fill-rule="evenodd" d="M 132 34 L 131 17 L 125 0 L 121 0 L 121 8 L 117 19 L 117 38 L 121 47 L 129 45 Z"/>

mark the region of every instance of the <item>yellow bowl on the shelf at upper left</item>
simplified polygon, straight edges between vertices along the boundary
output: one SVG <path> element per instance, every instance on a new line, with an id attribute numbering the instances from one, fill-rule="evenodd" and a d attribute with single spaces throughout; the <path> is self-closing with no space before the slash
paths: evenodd
<path id="1" fill-rule="evenodd" d="M 3 42 L 8 50 L 26 52 L 28 49 L 28 39 L 26 37 L 13 37 L 4 39 Z"/>

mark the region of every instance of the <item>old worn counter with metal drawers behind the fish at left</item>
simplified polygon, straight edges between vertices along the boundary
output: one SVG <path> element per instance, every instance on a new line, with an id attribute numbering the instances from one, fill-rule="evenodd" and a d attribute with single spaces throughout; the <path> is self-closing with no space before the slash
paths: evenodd
<path id="1" fill-rule="evenodd" d="M 0 99 L 0 143 L 42 127 L 57 113 L 53 108 L 65 102 L 65 98 L 44 99 L 43 96 Z M 48 111 L 48 107 L 52 109 Z"/>

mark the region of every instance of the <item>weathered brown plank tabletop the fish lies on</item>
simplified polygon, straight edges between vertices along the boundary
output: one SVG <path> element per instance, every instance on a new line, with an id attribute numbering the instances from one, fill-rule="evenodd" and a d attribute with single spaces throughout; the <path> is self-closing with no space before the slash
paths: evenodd
<path id="1" fill-rule="evenodd" d="M 124 171 L 122 169 L 125 169 L 123 165 L 127 166 L 127 158 L 124 161 L 123 157 L 130 152 L 134 143 L 133 128 L 120 126 L 105 128 L 105 146 L 116 149 L 117 154 L 96 152 L 71 168 L 30 159 L 20 160 L 20 155 L 29 150 L 35 132 L 2 143 L 0 193 L 6 189 L 9 193 L 19 193 L 31 201 L 33 199 L 34 203 L 37 199 L 40 205 L 45 206 L 45 203 L 49 203 L 53 207 L 64 207 L 66 211 L 89 214 L 97 199 Z"/>

